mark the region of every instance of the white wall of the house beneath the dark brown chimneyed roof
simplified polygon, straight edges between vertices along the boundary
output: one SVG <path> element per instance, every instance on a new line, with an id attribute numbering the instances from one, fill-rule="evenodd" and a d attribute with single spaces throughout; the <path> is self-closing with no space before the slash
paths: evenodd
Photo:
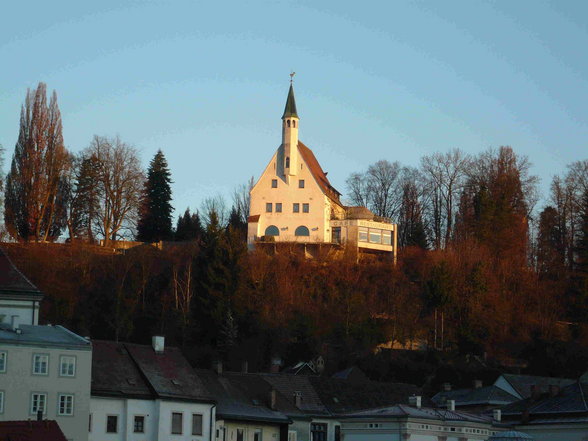
<path id="1" fill-rule="evenodd" d="M 181 429 L 175 431 L 180 433 L 172 433 L 174 413 L 182 415 Z M 90 415 L 90 441 L 209 441 L 215 430 L 214 405 L 206 403 L 92 396 Z M 193 415 L 201 416 L 201 434 L 192 432 Z M 115 431 L 109 432 L 113 417 Z"/>

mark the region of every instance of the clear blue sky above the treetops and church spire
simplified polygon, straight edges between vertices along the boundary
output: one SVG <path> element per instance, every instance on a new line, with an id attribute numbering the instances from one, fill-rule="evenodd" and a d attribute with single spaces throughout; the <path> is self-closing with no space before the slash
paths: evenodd
<path id="1" fill-rule="evenodd" d="M 119 136 L 158 149 L 175 214 L 257 179 L 300 139 L 335 188 L 380 160 L 418 166 L 510 145 L 545 198 L 588 159 L 588 2 L 9 2 L 0 17 L 5 169 L 27 88 L 56 90 L 67 148 Z"/>

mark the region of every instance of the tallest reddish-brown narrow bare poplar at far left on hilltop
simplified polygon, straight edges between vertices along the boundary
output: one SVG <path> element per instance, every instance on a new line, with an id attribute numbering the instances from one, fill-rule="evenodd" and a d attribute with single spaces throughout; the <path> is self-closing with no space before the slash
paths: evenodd
<path id="1" fill-rule="evenodd" d="M 6 178 L 4 219 L 13 237 L 47 241 L 59 236 L 64 227 L 59 186 L 66 162 L 57 94 L 47 104 L 46 86 L 39 83 L 27 90 Z"/>

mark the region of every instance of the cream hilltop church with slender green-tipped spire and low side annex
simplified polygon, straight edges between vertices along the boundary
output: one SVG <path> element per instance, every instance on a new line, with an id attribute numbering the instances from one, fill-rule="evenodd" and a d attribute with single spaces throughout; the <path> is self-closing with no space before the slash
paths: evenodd
<path id="1" fill-rule="evenodd" d="M 300 118 L 290 84 L 282 144 L 251 189 L 247 242 L 349 245 L 396 256 L 397 227 L 365 207 L 347 207 L 314 153 L 298 139 Z"/>

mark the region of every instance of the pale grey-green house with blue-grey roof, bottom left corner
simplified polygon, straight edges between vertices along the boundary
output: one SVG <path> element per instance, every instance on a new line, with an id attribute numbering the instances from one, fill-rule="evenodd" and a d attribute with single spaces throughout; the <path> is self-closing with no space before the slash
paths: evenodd
<path id="1" fill-rule="evenodd" d="M 90 341 L 62 326 L 0 324 L 0 421 L 55 420 L 88 439 Z"/>

